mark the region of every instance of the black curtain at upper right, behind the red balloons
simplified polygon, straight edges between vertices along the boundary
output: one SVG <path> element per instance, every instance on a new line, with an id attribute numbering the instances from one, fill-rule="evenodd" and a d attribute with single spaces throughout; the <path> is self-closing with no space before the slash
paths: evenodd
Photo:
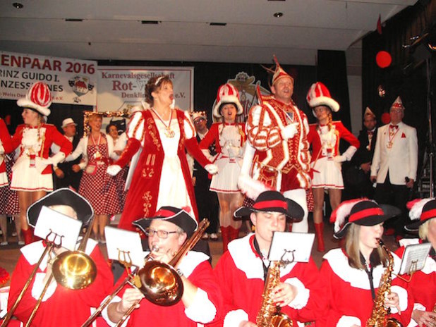
<path id="1" fill-rule="evenodd" d="M 427 44 L 436 45 L 436 1 L 418 1 L 388 20 L 382 27 L 382 34 L 372 32 L 363 38 L 362 49 L 362 99 L 363 106 L 369 106 L 380 122 L 382 113 L 397 96 L 406 108 L 404 122 L 418 132 L 419 163 L 428 145 L 428 78 L 430 90 L 434 90 L 436 73 L 435 52 L 427 49 Z M 422 37 L 428 33 L 427 37 Z M 413 43 L 412 37 L 419 38 Z M 412 47 L 408 47 L 409 45 Z M 379 51 L 388 51 L 392 63 L 388 68 L 380 68 L 376 63 Z M 428 59 L 428 66 L 425 62 Z M 379 88 L 385 91 L 380 97 Z M 436 115 L 434 94 L 430 94 L 433 122 Z M 363 114 L 363 113 L 362 113 Z M 382 123 L 380 123 L 381 125 Z M 435 135 L 435 123 L 433 123 Z"/>

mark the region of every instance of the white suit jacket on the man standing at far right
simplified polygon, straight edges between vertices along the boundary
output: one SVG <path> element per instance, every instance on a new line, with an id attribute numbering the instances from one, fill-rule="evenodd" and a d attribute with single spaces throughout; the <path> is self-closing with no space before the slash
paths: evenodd
<path id="1" fill-rule="evenodd" d="M 406 177 L 416 181 L 418 168 L 418 139 L 416 129 L 401 122 L 398 132 L 392 139 L 392 148 L 388 148 L 389 124 L 377 131 L 371 176 L 377 175 L 377 183 L 384 183 L 387 172 L 394 185 L 406 185 Z"/>

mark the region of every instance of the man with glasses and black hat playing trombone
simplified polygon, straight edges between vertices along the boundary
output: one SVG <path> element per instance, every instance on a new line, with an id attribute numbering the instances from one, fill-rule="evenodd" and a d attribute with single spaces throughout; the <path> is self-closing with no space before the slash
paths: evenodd
<path id="1" fill-rule="evenodd" d="M 166 264 L 198 228 L 195 218 L 173 206 L 162 206 L 156 216 L 142 218 L 133 224 L 148 236 L 151 259 Z M 148 254 L 150 252 L 145 252 L 144 257 Z M 177 270 L 183 283 L 183 295 L 176 304 L 159 306 L 143 299 L 140 290 L 128 285 L 102 311 L 102 316 L 109 326 L 115 326 L 128 309 L 140 300 L 122 326 L 194 327 L 198 323 L 217 321 L 222 296 L 208 259 L 206 254 L 192 250 L 182 257 Z M 127 273 L 121 276 L 120 283 L 126 276 Z"/>

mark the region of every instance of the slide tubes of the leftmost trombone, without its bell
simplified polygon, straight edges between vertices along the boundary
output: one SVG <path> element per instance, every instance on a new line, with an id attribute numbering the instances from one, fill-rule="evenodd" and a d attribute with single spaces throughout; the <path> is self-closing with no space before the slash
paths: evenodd
<path id="1" fill-rule="evenodd" d="M 52 237 L 52 240 L 50 240 L 50 237 Z M 6 317 L 5 317 L 4 321 L 3 321 L 3 323 L 1 323 L 1 327 L 8 326 L 8 323 L 11 320 L 11 318 L 13 316 L 13 313 L 17 309 L 18 304 L 20 304 L 21 300 L 23 299 L 24 293 L 28 290 L 28 288 L 30 286 L 30 283 L 32 283 L 32 280 L 35 277 L 35 275 L 37 273 L 37 270 L 40 267 L 40 264 L 41 264 L 42 260 L 47 255 L 47 253 L 50 254 L 50 252 L 52 251 L 52 249 L 54 247 L 61 247 L 61 245 L 62 245 L 62 237 L 63 236 L 57 235 L 52 230 L 50 230 L 50 233 L 45 237 L 45 242 L 47 242 L 47 247 L 45 247 L 44 252 L 42 252 L 42 255 L 41 255 L 40 259 L 35 264 L 35 268 L 32 270 L 32 273 L 30 273 L 30 276 L 29 276 L 28 280 L 26 280 L 26 282 L 25 282 L 25 284 L 23 286 L 23 289 L 21 290 L 20 294 L 17 297 L 17 300 L 13 303 L 13 306 L 8 311 L 8 314 L 6 314 Z M 56 242 L 56 240 L 57 240 L 57 242 Z M 44 297 L 45 291 L 47 290 L 48 285 L 50 284 L 51 281 L 52 281 L 52 276 L 50 276 L 49 280 L 47 280 L 47 283 L 44 286 L 44 290 L 43 290 L 43 292 L 42 292 L 42 294 L 40 296 L 40 299 L 38 299 L 37 305 L 33 309 L 32 314 L 30 315 L 30 318 L 28 319 L 28 323 L 26 323 L 26 326 L 29 326 L 30 322 L 32 322 L 33 317 L 35 316 L 38 307 L 40 307 L 40 303 L 42 301 L 42 297 Z"/>

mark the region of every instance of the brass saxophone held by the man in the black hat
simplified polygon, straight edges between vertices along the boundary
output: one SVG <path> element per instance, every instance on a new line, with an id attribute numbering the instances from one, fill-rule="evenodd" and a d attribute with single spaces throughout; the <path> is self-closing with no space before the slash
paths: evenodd
<path id="1" fill-rule="evenodd" d="M 280 307 L 271 300 L 271 291 L 280 283 L 280 261 L 272 261 L 268 268 L 265 288 L 262 294 L 262 304 L 256 318 L 259 327 L 291 327 L 292 320 L 280 312 Z"/>

